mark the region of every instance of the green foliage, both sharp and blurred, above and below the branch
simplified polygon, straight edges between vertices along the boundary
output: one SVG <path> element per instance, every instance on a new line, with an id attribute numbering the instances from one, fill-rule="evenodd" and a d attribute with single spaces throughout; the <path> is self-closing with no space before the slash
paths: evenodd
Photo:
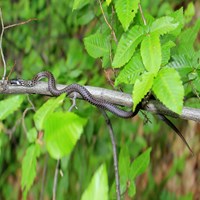
<path id="1" fill-rule="evenodd" d="M 193 3 L 185 6 L 181 0 L 1 1 L 5 25 L 37 18 L 5 30 L 8 68 L 16 62 L 13 77 L 31 79 L 49 70 L 59 83 L 102 87 L 109 87 L 108 74 L 116 89 L 132 93 L 133 110 L 148 94 L 178 114 L 184 103 L 200 107 L 200 20 L 193 18 Z M 0 199 L 19 196 L 20 181 L 24 199 L 38 199 L 43 179 L 43 197 L 50 199 L 55 159 L 61 159 L 64 173 L 57 185 L 58 199 L 115 199 L 111 142 L 96 108 L 77 100 L 78 110 L 70 113 L 65 95 L 29 98 L 35 113 L 24 96 L 1 98 Z M 152 123 L 144 127 L 137 117 L 125 121 L 111 116 L 123 197 L 154 199 L 156 192 L 160 199 L 192 199 L 191 193 L 179 196 L 165 187 L 177 172 L 183 172 L 186 157 L 176 160 L 174 156 L 167 175 L 157 184 L 154 169 L 158 157 L 162 160 L 169 153 L 169 138 L 160 136 L 162 125 L 147 116 Z M 48 172 L 40 178 L 45 166 Z M 138 186 L 139 176 L 145 188 Z"/>

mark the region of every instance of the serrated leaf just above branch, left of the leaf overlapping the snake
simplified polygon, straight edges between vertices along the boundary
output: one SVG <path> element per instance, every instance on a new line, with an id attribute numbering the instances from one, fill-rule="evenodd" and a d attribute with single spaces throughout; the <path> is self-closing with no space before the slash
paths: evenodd
<path id="1" fill-rule="evenodd" d="M 145 71 L 140 54 L 136 54 L 120 71 L 115 80 L 115 85 L 120 83 L 134 84 L 138 76 Z"/>

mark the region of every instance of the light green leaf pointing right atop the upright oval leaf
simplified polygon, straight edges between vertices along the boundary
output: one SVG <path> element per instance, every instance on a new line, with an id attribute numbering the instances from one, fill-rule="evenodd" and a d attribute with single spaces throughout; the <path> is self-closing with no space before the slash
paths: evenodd
<path id="1" fill-rule="evenodd" d="M 150 33 L 154 33 L 157 35 L 163 35 L 166 33 L 169 33 L 173 31 L 175 28 L 177 28 L 179 23 L 174 22 L 173 17 L 161 17 L 156 19 L 151 27 L 150 27 Z"/>

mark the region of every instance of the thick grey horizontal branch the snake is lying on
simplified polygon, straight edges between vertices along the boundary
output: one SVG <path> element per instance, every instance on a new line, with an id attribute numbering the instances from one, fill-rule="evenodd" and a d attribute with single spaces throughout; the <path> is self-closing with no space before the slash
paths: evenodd
<path id="1" fill-rule="evenodd" d="M 6 83 L 6 82 L 5 82 Z M 4 84 L 5 84 L 4 83 Z M 34 87 L 24 87 L 24 86 L 12 86 L 12 85 L 4 85 L 2 81 L 0 81 L 0 94 L 41 94 L 52 96 L 48 91 L 48 84 L 46 82 L 39 82 Z M 57 84 L 58 89 L 62 89 L 67 85 Z M 108 90 L 105 88 L 85 86 L 89 92 L 97 99 L 104 99 L 110 103 L 132 107 L 133 101 L 132 96 L 127 93 L 118 92 L 114 90 Z M 73 94 L 69 95 L 69 97 L 74 97 Z M 77 94 L 77 98 L 81 98 L 79 94 Z M 159 113 L 164 114 L 173 118 L 180 118 L 186 120 L 193 120 L 196 122 L 200 122 L 200 109 L 184 107 L 182 110 L 182 114 L 178 115 L 171 110 L 167 109 L 162 103 L 157 100 L 150 100 L 145 106 L 144 110 L 147 110 L 151 113 Z"/>

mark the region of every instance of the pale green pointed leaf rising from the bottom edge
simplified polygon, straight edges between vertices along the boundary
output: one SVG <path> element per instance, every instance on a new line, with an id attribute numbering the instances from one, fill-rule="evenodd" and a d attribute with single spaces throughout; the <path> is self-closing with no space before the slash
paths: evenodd
<path id="1" fill-rule="evenodd" d="M 84 191 L 81 200 L 107 200 L 108 199 L 108 175 L 105 164 L 95 172 L 88 188 Z"/>

